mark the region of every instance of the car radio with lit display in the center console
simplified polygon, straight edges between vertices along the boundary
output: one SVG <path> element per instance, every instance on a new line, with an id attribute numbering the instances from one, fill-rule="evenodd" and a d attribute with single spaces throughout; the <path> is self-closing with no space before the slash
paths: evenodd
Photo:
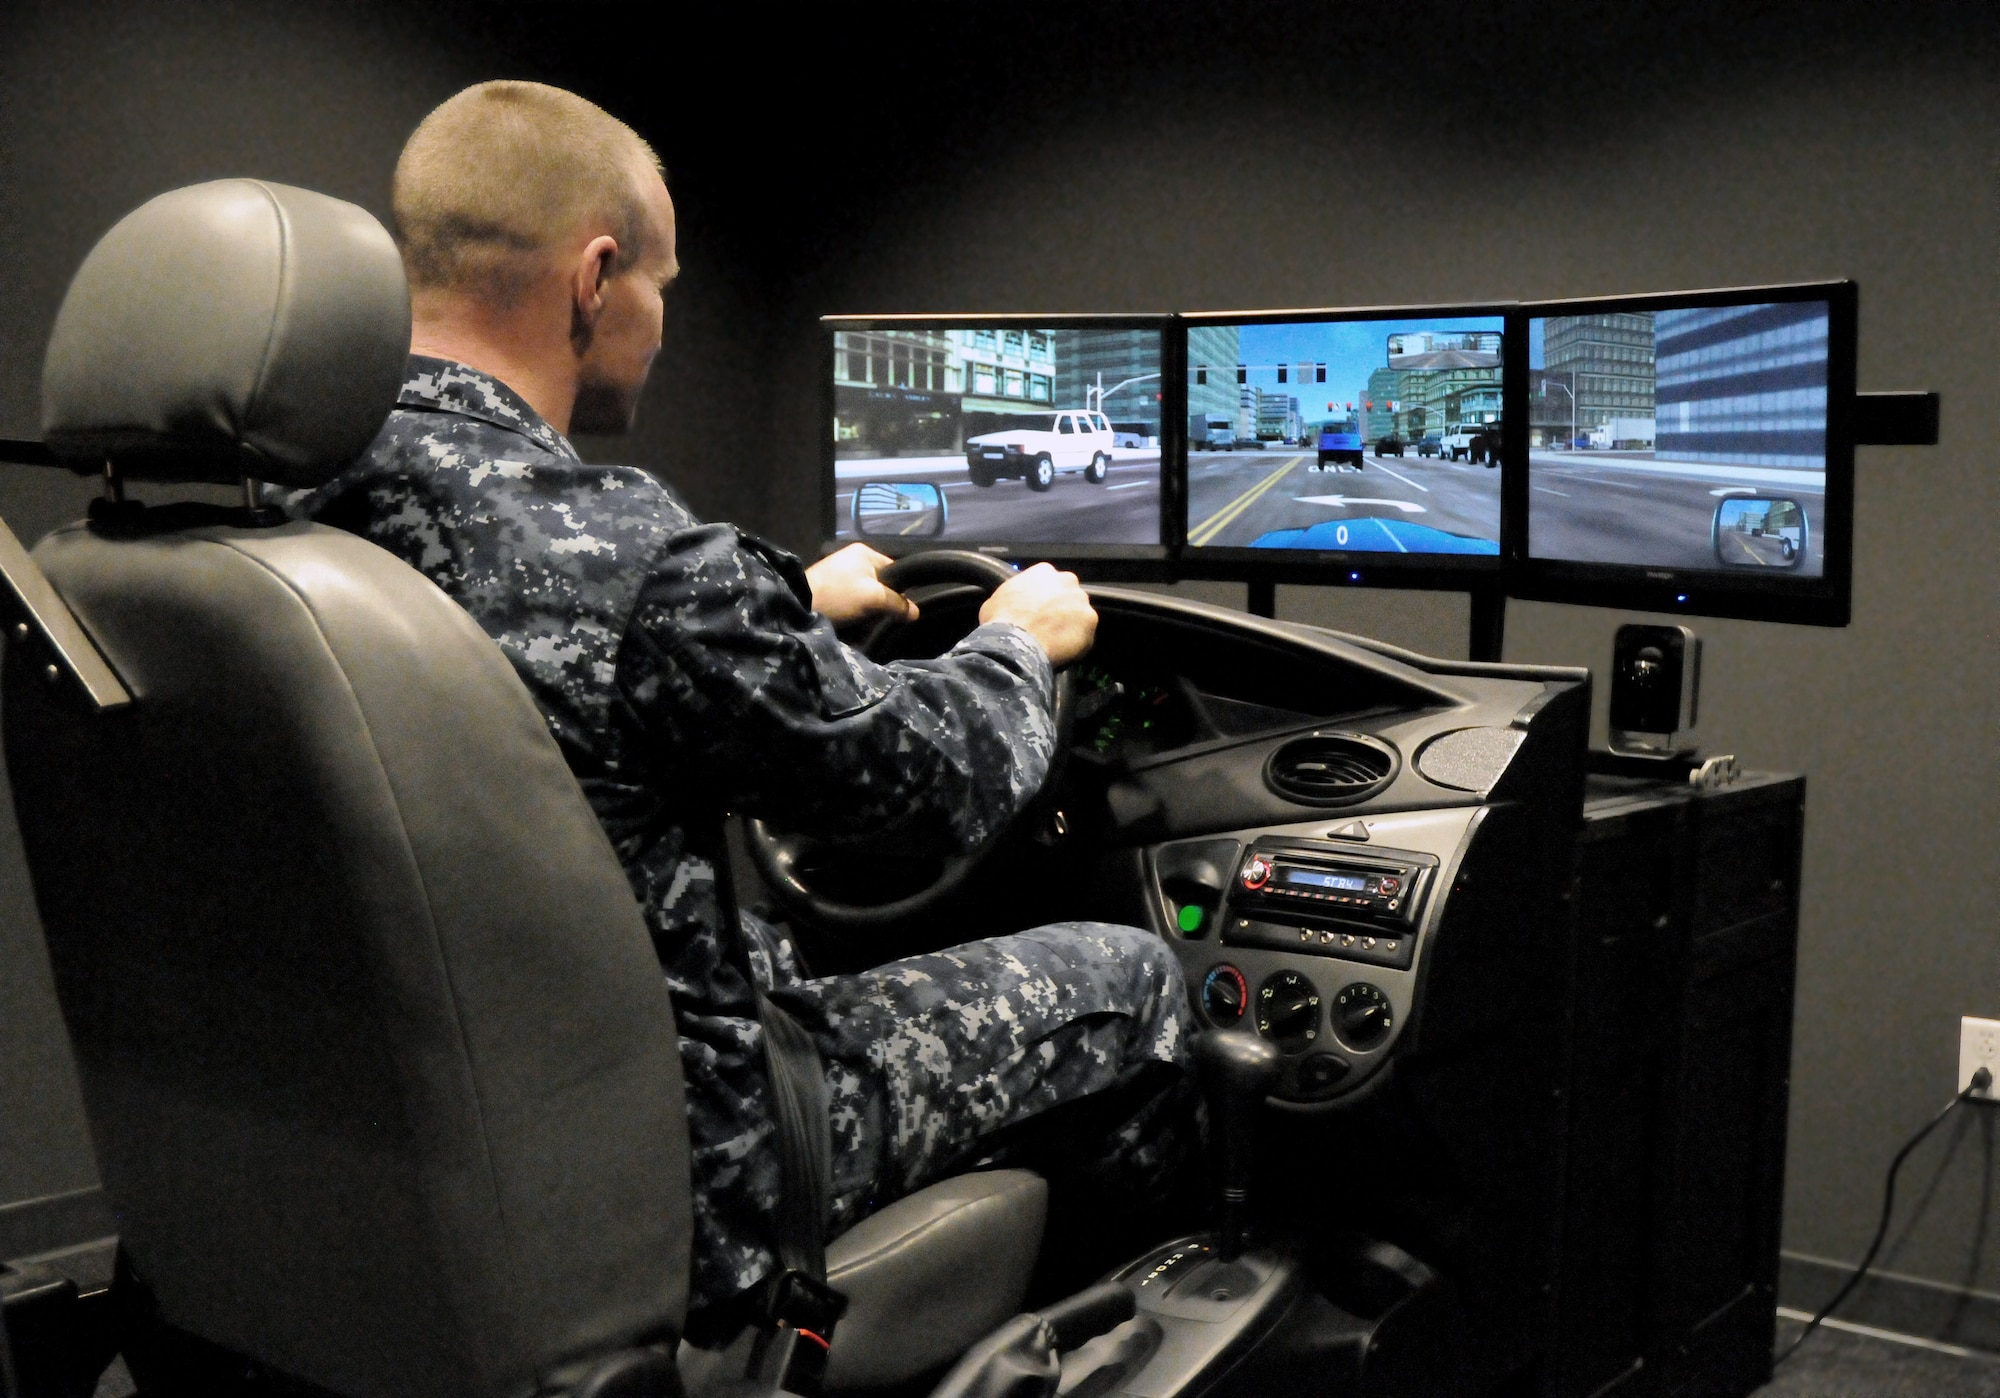
<path id="1" fill-rule="evenodd" d="M 1408 966 L 1436 870 L 1412 850 L 1258 840 L 1230 880 L 1222 940 Z"/>

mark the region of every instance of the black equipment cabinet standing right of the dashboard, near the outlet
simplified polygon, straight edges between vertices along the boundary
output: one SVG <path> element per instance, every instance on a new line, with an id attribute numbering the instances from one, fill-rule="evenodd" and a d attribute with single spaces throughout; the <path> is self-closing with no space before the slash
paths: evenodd
<path id="1" fill-rule="evenodd" d="M 1548 1398 L 1770 1380 L 1804 798 L 1588 782 Z"/>

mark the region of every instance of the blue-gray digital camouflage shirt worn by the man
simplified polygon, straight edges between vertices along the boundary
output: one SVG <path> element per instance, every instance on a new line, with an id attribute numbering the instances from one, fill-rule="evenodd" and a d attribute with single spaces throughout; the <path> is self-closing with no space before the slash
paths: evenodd
<path id="1" fill-rule="evenodd" d="M 548 716 L 666 968 L 694 1304 L 722 1300 L 770 1266 L 778 1188 L 754 998 L 722 940 L 724 812 L 972 848 L 1048 768 L 1048 656 L 994 624 L 938 660 L 874 664 L 812 612 L 796 558 L 702 524 L 644 470 L 582 462 L 506 384 L 450 360 L 412 356 L 360 462 L 288 504 L 436 582 Z M 782 952 L 754 964 L 798 978 Z"/>

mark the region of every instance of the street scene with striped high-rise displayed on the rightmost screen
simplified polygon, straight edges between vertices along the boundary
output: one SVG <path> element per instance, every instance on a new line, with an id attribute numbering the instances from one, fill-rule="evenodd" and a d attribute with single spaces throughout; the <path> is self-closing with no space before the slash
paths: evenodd
<path id="1" fill-rule="evenodd" d="M 1820 576 L 1820 300 L 1528 322 L 1528 554 Z"/>

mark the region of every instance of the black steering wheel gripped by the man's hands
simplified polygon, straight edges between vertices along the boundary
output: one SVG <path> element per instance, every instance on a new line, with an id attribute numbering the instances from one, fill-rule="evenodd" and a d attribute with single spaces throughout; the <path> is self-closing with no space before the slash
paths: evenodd
<path id="1" fill-rule="evenodd" d="M 1014 570 L 990 558 L 986 554 L 972 554 L 964 550 L 938 550 L 928 554 L 912 554 L 902 558 L 882 570 L 882 584 L 896 592 L 910 592 L 912 588 L 930 586 L 962 586 L 978 588 L 982 596 L 990 596 L 994 588 L 1014 576 Z M 880 652 L 884 640 L 894 634 L 902 622 L 888 620 L 878 624 L 868 638 L 862 642 L 864 654 Z M 1056 750 L 1050 756 L 1048 776 L 1042 782 L 1042 790 L 1050 790 L 1050 782 L 1058 772 L 1058 766 L 1070 746 L 1072 714 L 1076 710 L 1076 686 L 1070 680 L 1070 672 L 1062 670 L 1056 674 L 1056 702 L 1052 710 L 1052 728 L 1056 734 Z M 888 902 L 848 902 L 844 898 L 834 898 L 812 884 L 804 876 L 806 856 L 812 852 L 814 842 L 796 836 L 782 834 L 774 830 L 764 820 L 746 820 L 744 834 L 750 848 L 750 862 L 756 864 L 758 874 L 770 886 L 772 894 L 786 908 L 786 912 L 828 930 L 854 932 L 860 928 L 902 922 L 904 918 L 916 918 L 930 912 L 946 898 L 950 898 L 958 888 L 970 878 L 972 870 L 978 868 L 994 846 L 1020 822 L 1020 816 L 1036 806 L 1038 798 L 1030 798 L 1022 804 L 1022 812 L 1016 812 L 1014 820 L 994 830 L 980 848 L 970 854 L 952 854 L 942 860 L 938 874 L 914 892 L 902 894 Z"/>

